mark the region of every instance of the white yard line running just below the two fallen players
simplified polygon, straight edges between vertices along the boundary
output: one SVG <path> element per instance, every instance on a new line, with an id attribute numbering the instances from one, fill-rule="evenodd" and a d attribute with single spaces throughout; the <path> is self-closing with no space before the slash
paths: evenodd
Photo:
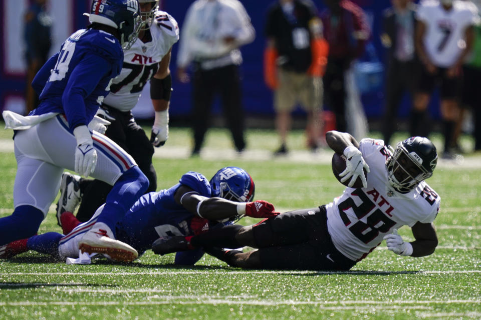
<path id="1" fill-rule="evenodd" d="M 465 273 L 481 273 L 481 270 L 445 270 L 445 271 L 228 271 L 228 270 L 192 270 L 192 271 L 172 271 L 166 269 L 164 272 L 151 271 L 151 272 L 2 272 L 0 276 L 9 275 L 183 275 L 183 274 L 210 274 L 210 275 L 229 275 L 229 274 L 290 274 L 290 275 L 304 275 L 304 274 L 465 274 Z M 0 283 L 2 287 L 2 283 Z"/>

